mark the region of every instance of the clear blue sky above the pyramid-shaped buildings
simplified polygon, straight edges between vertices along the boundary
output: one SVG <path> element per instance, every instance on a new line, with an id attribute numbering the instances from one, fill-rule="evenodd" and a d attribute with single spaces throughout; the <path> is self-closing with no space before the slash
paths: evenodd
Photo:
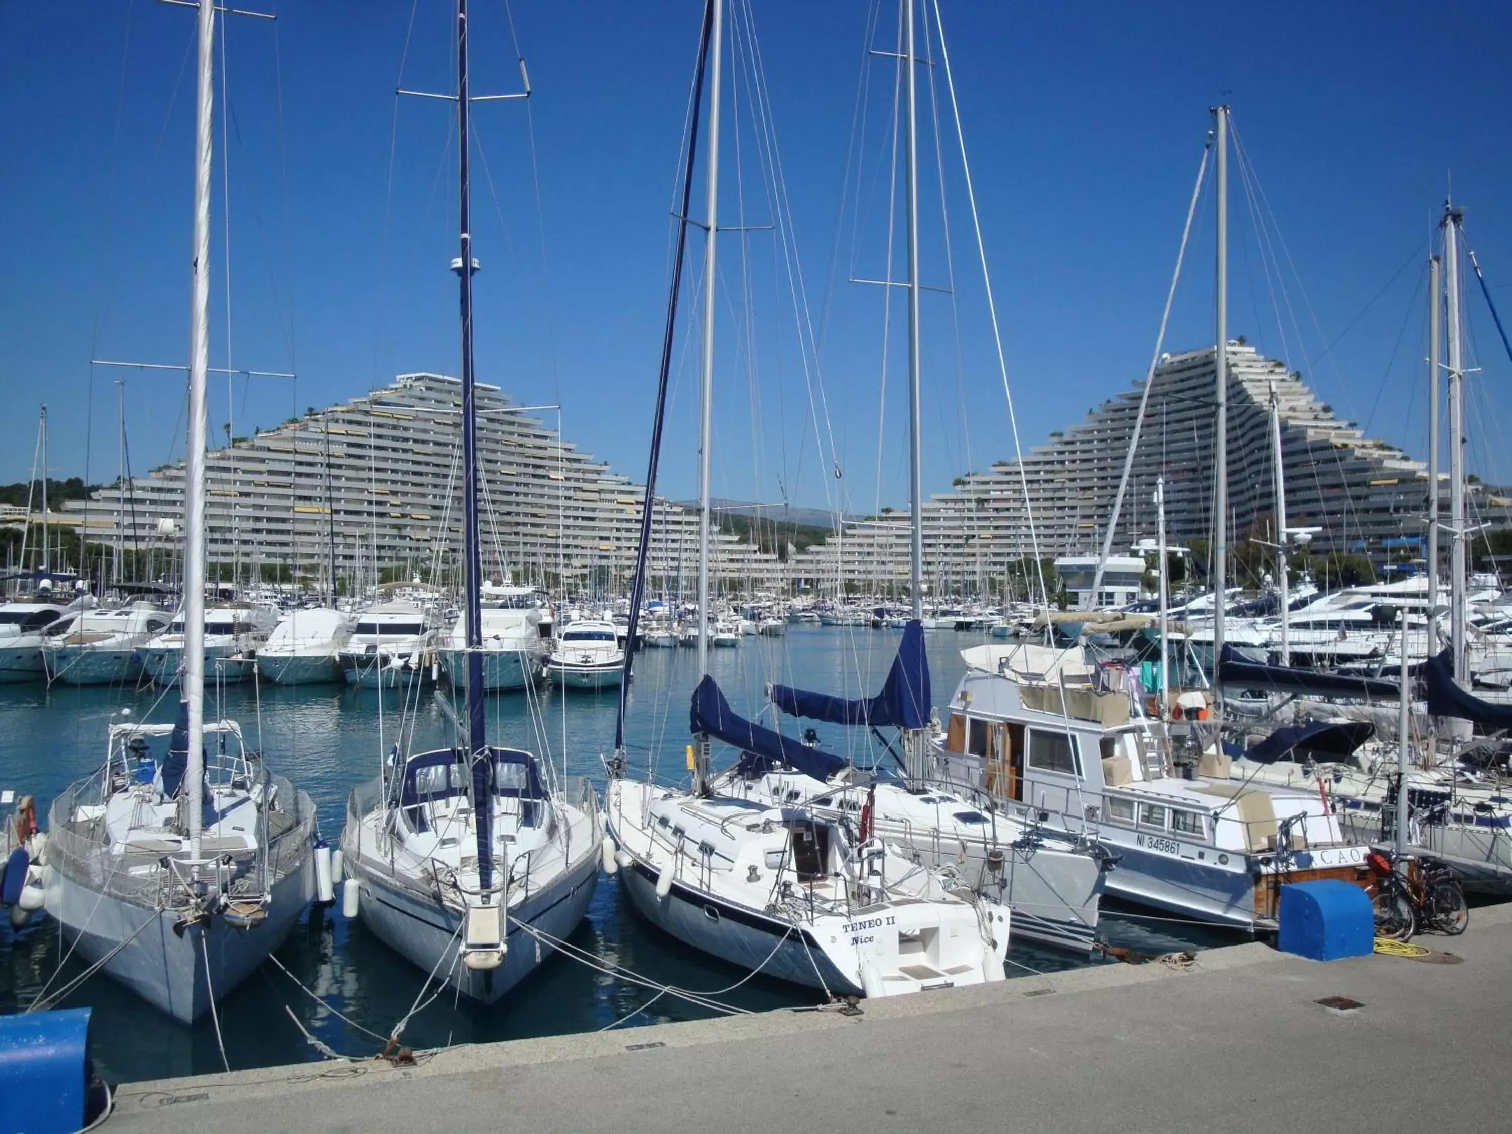
<path id="1" fill-rule="evenodd" d="M 875 45 L 888 48 L 897 15 L 891 0 L 883 8 Z M 284 0 L 277 11 L 277 41 L 266 23 L 233 20 L 227 42 L 230 346 L 237 366 L 293 369 L 299 380 L 296 389 L 237 384 L 239 434 L 396 372 L 457 370 L 446 271 L 455 254 L 451 109 L 405 100 L 395 119 L 410 3 Z M 449 11 L 446 0 L 419 0 L 407 86 L 451 82 Z M 561 401 L 567 437 L 635 479 L 646 461 L 699 11 L 699 0 L 516 0 L 535 91 L 531 116 L 508 103 L 476 115 L 497 192 L 496 206 L 475 153 L 479 378 L 526 402 Z M 856 139 L 860 224 L 848 206 L 857 200 L 857 162 L 848 165 L 847 153 L 868 12 L 863 0 L 754 3 L 795 245 L 823 325 L 820 383 L 844 481 L 816 457 L 792 316 L 774 286 L 777 243 L 753 231 L 753 351 L 736 328 L 747 318 L 738 240 L 724 239 L 720 253 L 721 496 L 786 493 L 823 505 L 841 487 L 851 510 L 906 503 L 903 325 L 892 322 L 878 479 L 883 296 L 847 283 L 851 246 L 856 274 L 883 271 L 886 60 L 874 64 L 869 125 Z M 1414 289 L 1450 181 L 1492 295 L 1512 308 L 1512 5 L 943 0 L 943 12 L 1025 445 L 1143 373 L 1208 107 L 1226 98 L 1287 266 L 1278 325 L 1235 175 L 1231 334 L 1287 357 L 1341 416 L 1423 455 L 1424 301 Z M 475 0 L 473 27 L 475 92 L 516 89 L 502 3 Z M 181 380 L 91 370 L 89 358 L 184 360 L 192 32 L 192 12 L 150 0 L 0 9 L 0 390 L 11 410 L 0 481 L 27 475 L 42 401 L 53 473 L 83 475 L 92 435 L 89 476 L 113 478 L 118 376 L 129 380 L 133 472 L 181 455 Z M 744 104 L 739 124 L 726 119 L 726 224 L 738 206 L 735 138 L 745 221 L 770 219 L 748 119 Z M 218 135 L 218 172 L 219 145 Z M 922 147 L 924 272 L 945 284 L 927 129 Z M 947 165 L 957 298 L 954 308 L 947 296 L 924 298 L 927 491 L 1012 455 L 965 197 L 954 160 Z M 227 357 L 222 219 L 218 181 L 213 364 Z M 1211 234 L 1207 213 L 1169 349 L 1211 342 Z M 901 310 L 895 301 L 894 314 Z M 696 314 L 691 296 L 685 313 Z M 1471 467 L 1506 481 L 1498 405 L 1512 367 L 1479 293 L 1468 314 L 1471 361 L 1483 367 L 1471 380 Z M 673 496 L 694 485 L 696 351 L 692 340 L 682 343 L 662 482 Z M 221 380 L 215 435 L 227 402 Z"/>

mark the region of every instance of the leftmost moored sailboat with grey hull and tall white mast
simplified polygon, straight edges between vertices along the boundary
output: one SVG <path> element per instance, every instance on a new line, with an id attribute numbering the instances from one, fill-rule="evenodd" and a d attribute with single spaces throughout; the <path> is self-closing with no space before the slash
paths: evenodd
<path id="1" fill-rule="evenodd" d="M 204 720 L 215 11 L 200 0 L 183 700 L 174 724 L 109 727 L 101 770 L 53 803 L 44 878 L 80 957 L 184 1024 L 284 942 L 316 889 L 310 797 L 248 751 L 234 721 Z"/>

